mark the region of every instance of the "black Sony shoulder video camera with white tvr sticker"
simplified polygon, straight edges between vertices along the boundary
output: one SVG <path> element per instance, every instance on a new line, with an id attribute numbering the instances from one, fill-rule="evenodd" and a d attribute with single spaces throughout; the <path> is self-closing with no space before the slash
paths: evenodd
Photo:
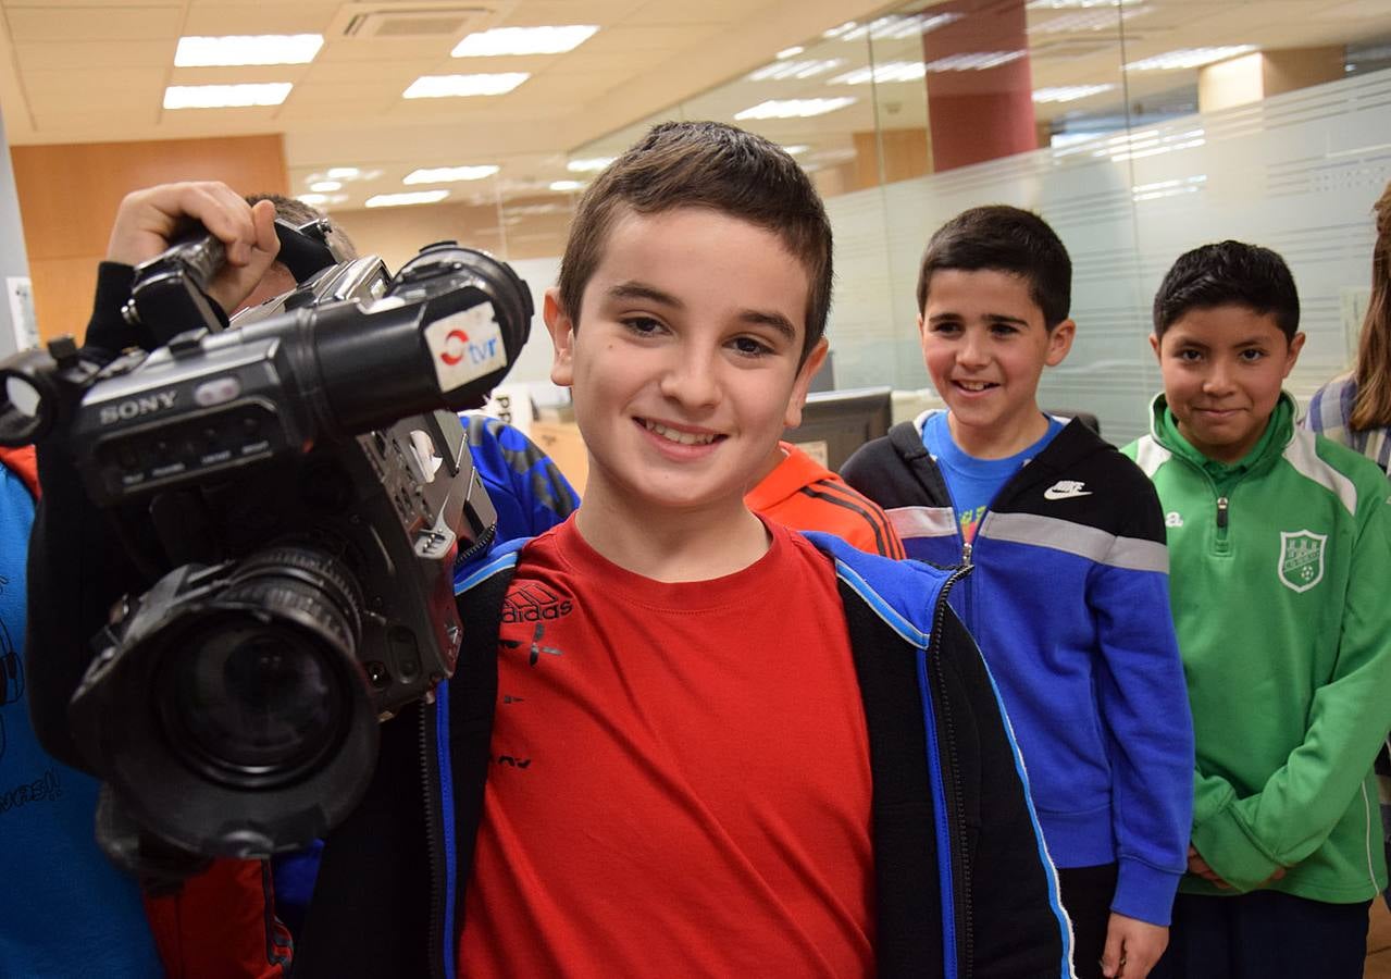
<path id="1" fill-rule="evenodd" d="M 453 672 L 453 569 L 495 520 L 453 412 L 504 377 L 533 307 L 506 264 L 444 242 L 394 278 L 332 266 L 221 330 L 195 288 L 216 252 L 136 270 L 127 318 L 153 352 L 99 364 L 64 338 L 0 364 L 0 444 L 70 453 L 157 577 L 95 638 L 82 751 L 157 837 L 249 857 L 345 816 L 378 719 Z"/>

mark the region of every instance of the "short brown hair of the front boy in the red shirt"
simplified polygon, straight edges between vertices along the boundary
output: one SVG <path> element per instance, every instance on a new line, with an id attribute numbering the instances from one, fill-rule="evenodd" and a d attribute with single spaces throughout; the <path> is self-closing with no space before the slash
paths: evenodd
<path id="1" fill-rule="evenodd" d="M 830 220 L 811 178 L 786 150 L 722 122 L 652 127 L 580 197 L 559 280 L 561 306 L 576 328 L 584 288 L 600 266 L 615 220 L 625 209 L 659 214 L 676 207 L 707 207 L 782 239 L 811 281 L 801 350 L 805 360 L 825 334 L 830 310 Z"/>

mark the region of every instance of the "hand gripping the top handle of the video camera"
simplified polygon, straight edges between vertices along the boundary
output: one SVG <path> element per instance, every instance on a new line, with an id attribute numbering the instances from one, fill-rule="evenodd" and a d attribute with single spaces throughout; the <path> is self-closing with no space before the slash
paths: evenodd
<path id="1" fill-rule="evenodd" d="M 125 195 L 115 211 L 107 261 L 138 266 L 164 252 L 189 221 L 198 221 L 227 248 L 227 264 L 209 284 L 224 310 L 246 298 L 280 252 L 275 206 L 255 207 L 216 181 L 161 184 Z"/>

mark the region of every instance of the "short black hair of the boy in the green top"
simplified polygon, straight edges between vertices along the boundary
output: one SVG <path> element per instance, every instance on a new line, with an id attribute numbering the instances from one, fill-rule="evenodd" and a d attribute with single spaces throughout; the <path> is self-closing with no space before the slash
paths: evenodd
<path id="1" fill-rule="evenodd" d="M 1299 330 L 1299 292 L 1277 252 L 1245 242 L 1217 242 L 1184 252 L 1155 293 L 1155 337 L 1193 309 L 1245 306 L 1294 339 Z"/>

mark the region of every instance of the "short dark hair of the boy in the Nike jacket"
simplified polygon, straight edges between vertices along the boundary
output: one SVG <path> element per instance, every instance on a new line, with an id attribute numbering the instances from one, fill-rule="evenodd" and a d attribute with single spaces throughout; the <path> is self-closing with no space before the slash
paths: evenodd
<path id="1" fill-rule="evenodd" d="M 1072 260 L 1047 221 L 1008 204 L 971 207 L 928 239 L 918 268 L 918 312 L 928 306 L 932 273 L 990 270 L 1018 275 L 1053 330 L 1072 306 Z"/>

